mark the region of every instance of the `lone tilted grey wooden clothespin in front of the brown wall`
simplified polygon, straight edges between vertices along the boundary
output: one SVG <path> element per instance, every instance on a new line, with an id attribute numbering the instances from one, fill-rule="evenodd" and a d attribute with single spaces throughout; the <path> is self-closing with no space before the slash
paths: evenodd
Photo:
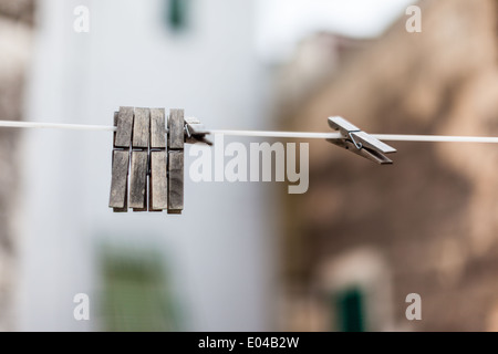
<path id="1" fill-rule="evenodd" d="M 394 147 L 362 132 L 362 129 L 342 117 L 330 117 L 329 125 L 333 129 L 339 131 L 342 137 L 339 139 L 326 139 L 328 142 L 381 165 L 393 163 L 384 154 L 396 153 Z"/>

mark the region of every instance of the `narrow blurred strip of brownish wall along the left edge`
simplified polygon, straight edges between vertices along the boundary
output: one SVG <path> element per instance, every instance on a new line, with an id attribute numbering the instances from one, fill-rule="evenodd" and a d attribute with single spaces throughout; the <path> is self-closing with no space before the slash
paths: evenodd
<path id="1" fill-rule="evenodd" d="M 0 119 L 23 117 L 23 92 L 31 55 L 33 1 L 0 1 Z M 0 331 L 14 329 L 18 277 L 19 132 L 0 131 Z"/>

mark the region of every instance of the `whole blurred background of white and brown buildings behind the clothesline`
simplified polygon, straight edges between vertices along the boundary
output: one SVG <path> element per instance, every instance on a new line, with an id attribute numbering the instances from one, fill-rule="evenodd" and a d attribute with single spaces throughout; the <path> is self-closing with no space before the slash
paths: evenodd
<path id="1" fill-rule="evenodd" d="M 495 136 L 497 20 L 494 0 L 0 0 L 0 118 Z M 302 143 L 304 195 L 186 175 L 181 216 L 113 214 L 110 133 L 0 128 L 0 330 L 498 330 L 495 146 L 396 143 L 378 167 Z"/>

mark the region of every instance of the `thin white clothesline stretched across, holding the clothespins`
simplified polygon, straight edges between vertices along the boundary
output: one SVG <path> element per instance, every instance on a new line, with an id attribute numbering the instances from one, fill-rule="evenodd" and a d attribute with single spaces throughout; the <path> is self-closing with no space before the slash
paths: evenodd
<path id="1" fill-rule="evenodd" d="M 11 128 L 40 128 L 40 129 L 71 129 L 71 131 L 103 131 L 115 132 L 116 127 L 111 125 L 84 125 L 84 124 L 59 124 L 41 122 L 0 121 L 0 127 Z M 252 136 L 276 138 L 303 138 L 303 139 L 340 139 L 340 133 L 310 133 L 310 132 L 269 132 L 269 131 L 226 131 L 208 129 L 209 134 L 227 136 Z M 427 142 L 427 143 L 484 143 L 498 144 L 495 136 L 449 136 L 449 135 L 406 135 L 406 134 L 370 134 L 384 142 Z"/>

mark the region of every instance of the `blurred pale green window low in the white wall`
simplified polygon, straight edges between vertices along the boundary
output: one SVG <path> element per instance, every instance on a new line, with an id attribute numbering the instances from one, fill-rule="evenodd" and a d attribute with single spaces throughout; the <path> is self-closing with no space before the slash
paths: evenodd
<path id="1" fill-rule="evenodd" d="M 148 251 L 106 250 L 102 259 L 104 331 L 175 331 L 163 259 Z"/>

